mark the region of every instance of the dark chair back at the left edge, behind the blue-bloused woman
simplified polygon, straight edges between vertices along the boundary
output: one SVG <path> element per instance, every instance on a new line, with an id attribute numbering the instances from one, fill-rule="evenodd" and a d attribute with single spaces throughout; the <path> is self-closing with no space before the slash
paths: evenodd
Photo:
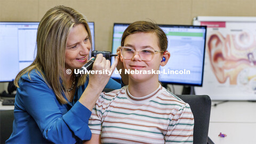
<path id="1" fill-rule="evenodd" d="M 5 143 L 12 134 L 13 110 L 0 110 L 0 142 Z"/>

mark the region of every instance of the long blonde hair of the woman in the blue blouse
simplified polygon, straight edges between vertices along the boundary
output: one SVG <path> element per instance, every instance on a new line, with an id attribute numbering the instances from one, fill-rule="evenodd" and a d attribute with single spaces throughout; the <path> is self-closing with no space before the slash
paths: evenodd
<path id="1" fill-rule="evenodd" d="M 47 11 L 39 23 L 36 38 L 37 54 L 34 62 L 20 71 L 14 80 L 15 86 L 19 87 L 19 79 L 22 75 L 35 69 L 42 75 L 45 83 L 52 89 L 61 103 L 67 103 L 62 93 L 67 94 L 65 89 L 65 50 L 67 37 L 71 28 L 83 24 L 92 43 L 91 31 L 83 14 L 66 6 L 55 6 Z M 60 81 L 61 79 L 61 81 Z M 76 86 L 86 82 L 86 75 L 77 80 Z"/>

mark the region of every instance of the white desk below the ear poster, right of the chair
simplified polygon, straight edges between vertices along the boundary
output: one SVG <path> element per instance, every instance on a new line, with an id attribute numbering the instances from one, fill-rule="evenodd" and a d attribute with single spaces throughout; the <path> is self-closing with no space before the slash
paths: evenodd
<path id="1" fill-rule="evenodd" d="M 209 137 L 216 144 L 256 143 L 255 110 L 256 102 L 248 101 L 228 101 L 212 107 Z M 218 137 L 220 132 L 227 137 Z"/>

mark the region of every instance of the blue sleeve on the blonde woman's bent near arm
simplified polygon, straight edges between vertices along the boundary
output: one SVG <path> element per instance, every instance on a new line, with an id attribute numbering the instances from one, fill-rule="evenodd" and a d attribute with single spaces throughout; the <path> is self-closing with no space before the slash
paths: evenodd
<path id="1" fill-rule="evenodd" d="M 91 139 L 88 126 L 91 111 L 79 101 L 66 114 L 62 114 L 60 109 L 65 107 L 59 103 L 43 79 L 29 81 L 21 78 L 19 83 L 25 108 L 35 119 L 45 139 L 53 143 L 75 143 L 77 138 Z"/>

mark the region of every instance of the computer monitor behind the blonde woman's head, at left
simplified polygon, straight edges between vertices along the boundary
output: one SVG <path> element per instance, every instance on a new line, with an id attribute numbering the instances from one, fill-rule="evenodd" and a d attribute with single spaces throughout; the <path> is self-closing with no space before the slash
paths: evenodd
<path id="1" fill-rule="evenodd" d="M 0 82 L 11 82 L 36 57 L 39 22 L 0 22 Z M 89 22 L 94 50 L 94 22 Z"/>

